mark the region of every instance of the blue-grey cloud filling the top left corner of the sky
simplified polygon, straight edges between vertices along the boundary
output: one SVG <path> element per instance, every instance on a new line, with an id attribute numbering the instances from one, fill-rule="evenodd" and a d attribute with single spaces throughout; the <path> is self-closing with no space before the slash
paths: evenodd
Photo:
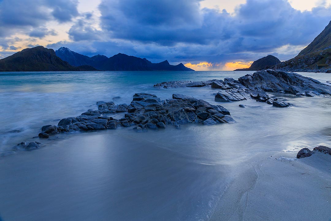
<path id="1" fill-rule="evenodd" d="M 0 38 L 29 35 L 42 38 L 55 35 L 48 22 L 69 22 L 76 16 L 77 0 L 2 0 L 0 1 Z M 1 39 L 0 39 L 1 41 Z M 8 46 L 1 44 L 3 50 Z"/>

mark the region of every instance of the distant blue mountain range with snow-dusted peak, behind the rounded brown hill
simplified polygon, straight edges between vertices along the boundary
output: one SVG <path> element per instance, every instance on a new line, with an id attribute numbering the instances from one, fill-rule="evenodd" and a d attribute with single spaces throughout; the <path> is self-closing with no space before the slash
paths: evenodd
<path id="1" fill-rule="evenodd" d="M 113 57 L 95 55 L 88 57 L 69 48 L 61 47 L 55 51 L 56 55 L 72 66 L 90 65 L 101 71 L 194 71 L 185 67 L 182 63 L 170 65 L 169 62 L 152 63 L 146 58 L 138 58 L 118 53 Z"/>

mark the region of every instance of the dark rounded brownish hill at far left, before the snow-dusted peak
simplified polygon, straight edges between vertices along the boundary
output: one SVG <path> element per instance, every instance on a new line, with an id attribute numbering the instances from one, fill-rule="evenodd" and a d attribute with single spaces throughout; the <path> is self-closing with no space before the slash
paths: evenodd
<path id="1" fill-rule="evenodd" d="M 0 60 L 0 71 L 95 71 L 91 66 L 73 67 L 56 56 L 53 49 L 26 48 Z"/>

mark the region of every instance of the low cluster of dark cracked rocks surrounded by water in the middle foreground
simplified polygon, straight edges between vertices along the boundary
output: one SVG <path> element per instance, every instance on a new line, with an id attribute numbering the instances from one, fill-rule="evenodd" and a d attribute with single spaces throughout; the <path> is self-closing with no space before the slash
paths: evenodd
<path id="1" fill-rule="evenodd" d="M 38 136 L 48 138 L 51 134 L 116 129 L 118 126 L 133 127 L 142 132 L 165 129 L 169 125 L 179 129 L 180 125 L 187 123 L 213 125 L 235 122 L 224 107 L 182 94 L 161 100 L 154 94 L 136 93 L 129 105 L 98 101 L 97 106 L 98 110 L 89 109 L 78 117 L 62 119 L 57 126 L 43 126 Z M 123 113 L 124 117 L 113 118 L 111 115 L 116 113 Z"/>

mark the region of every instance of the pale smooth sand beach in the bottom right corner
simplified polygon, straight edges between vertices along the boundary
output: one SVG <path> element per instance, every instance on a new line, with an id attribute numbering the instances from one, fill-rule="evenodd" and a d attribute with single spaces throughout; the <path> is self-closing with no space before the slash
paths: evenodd
<path id="1" fill-rule="evenodd" d="M 329 220 L 331 156 L 317 152 L 296 159 L 295 155 L 257 154 L 225 190 L 209 221 Z"/>

